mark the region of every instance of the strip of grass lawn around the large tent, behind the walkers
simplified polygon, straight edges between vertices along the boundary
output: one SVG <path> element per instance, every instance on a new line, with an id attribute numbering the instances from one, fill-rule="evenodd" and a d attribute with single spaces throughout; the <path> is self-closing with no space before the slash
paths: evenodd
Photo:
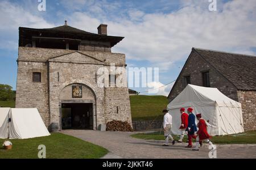
<path id="1" fill-rule="evenodd" d="M 150 133 L 150 134 L 133 134 L 131 137 L 139 139 L 154 139 L 154 140 L 164 140 L 163 133 Z M 173 135 L 174 139 L 178 140 L 178 135 Z M 185 135 L 183 141 L 187 141 L 187 136 Z M 216 136 L 212 137 L 211 141 L 216 144 L 243 144 L 251 143 L 256 144 L 256 131 L 245 131 L 244 133 L 235 134 L 235 135 L 225 135 L 225 136 Z"/>

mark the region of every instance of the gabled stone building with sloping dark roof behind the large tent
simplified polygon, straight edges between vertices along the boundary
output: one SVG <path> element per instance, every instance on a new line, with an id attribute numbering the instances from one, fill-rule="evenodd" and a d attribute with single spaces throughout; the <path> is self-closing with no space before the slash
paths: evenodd
<path id="1" fill-rule="evenodd" d="M 245 130 L 256 129 L 255 56 L 192 48 L 168 100 L 174 100 L 187 84 L 218 88 L 240 102 Z"/>

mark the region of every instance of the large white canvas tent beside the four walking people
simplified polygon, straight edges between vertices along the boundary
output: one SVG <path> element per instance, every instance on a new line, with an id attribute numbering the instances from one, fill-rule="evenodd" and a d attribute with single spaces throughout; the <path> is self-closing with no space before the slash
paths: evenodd
<path id="1" fill-rule="evenodd" d="M 180 134 L 180 108 L 194 109 L 193 113 L 201 113 L 202 118 L 217 128 L 208 127 L 210 135 L 226 135 L 243 132 L 241 103 L 230 99 L 217 88 L 188 86 L 167 105 L 172 115 L 172 133 Z"/>

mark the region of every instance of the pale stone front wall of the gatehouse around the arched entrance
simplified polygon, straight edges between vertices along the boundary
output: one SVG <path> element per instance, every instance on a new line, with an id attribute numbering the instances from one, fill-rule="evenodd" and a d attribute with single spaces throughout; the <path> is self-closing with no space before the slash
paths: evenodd
<path id="1" fill-rule="evenodd" d="M 97 84 L 97 70 L 110 70 L 110 63 L 125 67 L 125 54 L 19 47 L 16 107 L 38 108 L 46 126 L 58 130 L 61 91 L 80 83 L 96 97 L 94 129 L 112 119 L 131 123 L 128 88 Z M 32 82 L 33 72 L 42 73 L 42 82 Z"/>

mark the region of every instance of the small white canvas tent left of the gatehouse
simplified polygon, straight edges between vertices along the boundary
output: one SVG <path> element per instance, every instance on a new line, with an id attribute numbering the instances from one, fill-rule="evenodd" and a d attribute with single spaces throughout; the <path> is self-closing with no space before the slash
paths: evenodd
<path id="1" fill-rule="evenodd" d="M 38 109 L 0 108 L 0 138 L 27 139 L 48 135 Z"/>

